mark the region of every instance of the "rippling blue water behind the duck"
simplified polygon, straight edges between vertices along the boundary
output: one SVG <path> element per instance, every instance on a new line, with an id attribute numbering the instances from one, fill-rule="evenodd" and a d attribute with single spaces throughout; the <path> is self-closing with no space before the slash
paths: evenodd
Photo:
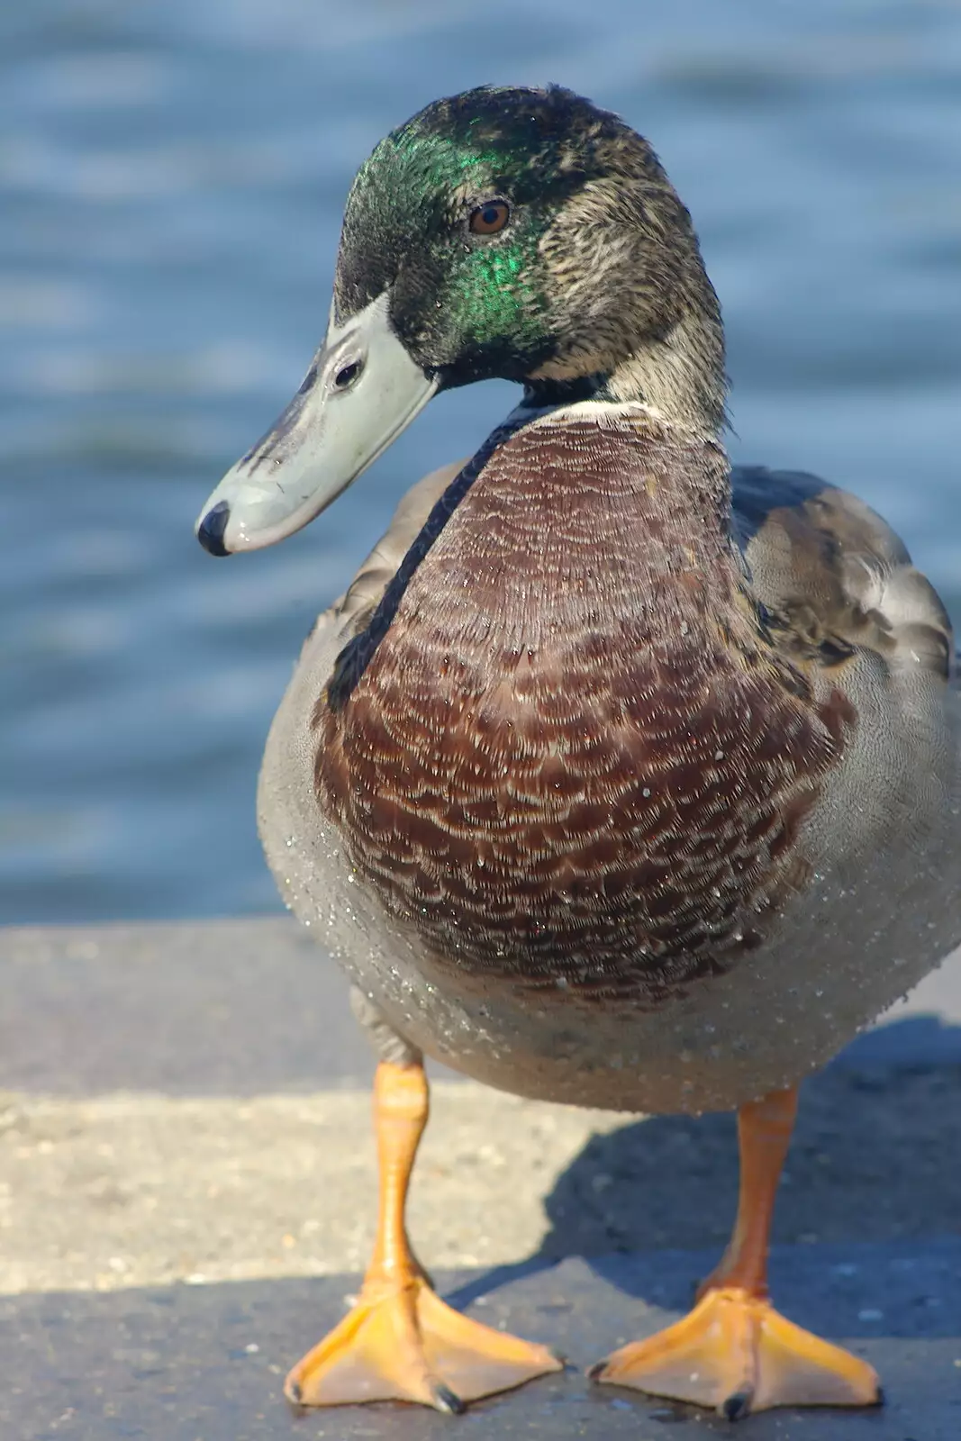
<path id="1" fill-rule="evenodd" d="M 961 7 L 30 0 L 0 14 L 0 919 L 278 902 L 262 739 L 314 614 L 504 385 L 435 401 L 310 530 L 193 519 L 298 385 L 392 125 L 556 79 L 656 144 L 725 305 L 738 458 L 821 471 L 961 618 Z"/>

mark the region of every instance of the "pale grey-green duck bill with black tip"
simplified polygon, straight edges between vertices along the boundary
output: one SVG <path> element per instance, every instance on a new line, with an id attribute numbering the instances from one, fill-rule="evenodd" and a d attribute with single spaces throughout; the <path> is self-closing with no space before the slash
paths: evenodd
<path id="1" fill-rule="evenodd" d="M 272 429 L 233 465 L 203 507 L 210 555 L 259 550 L 294 535 L 357 478 L 435 393 L 388 314 L 370 301 L 327 337 Z"/>

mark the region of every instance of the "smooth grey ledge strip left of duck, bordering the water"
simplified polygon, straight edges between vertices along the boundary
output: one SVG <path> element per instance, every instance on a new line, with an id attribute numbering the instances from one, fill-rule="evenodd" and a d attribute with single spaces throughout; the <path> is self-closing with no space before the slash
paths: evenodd
<path id="1" fill-rule="evenodd" d="M 347 984 L 285 916 L 0 929 L 0 1087 L 91 1095 L 366 1084 Z"/>

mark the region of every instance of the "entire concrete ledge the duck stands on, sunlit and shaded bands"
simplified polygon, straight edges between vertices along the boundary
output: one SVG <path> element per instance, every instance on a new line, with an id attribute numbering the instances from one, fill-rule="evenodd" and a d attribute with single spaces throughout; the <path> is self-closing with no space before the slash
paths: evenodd
<path id="1" fill-rule="evenodd" d="M 294 1417 L 282 1372 L 356 1290 L 373 1221 L 372 1062 L 336 968 L 284 918 L 23 928 L 0 987 L 0 1441 L 728 1429 L 578 1370 L 462 1419 Z M 775 1218 L 778 1303 L 863 1350 L 889 1404 L 751 1418 L 748 1441 L 961 1437 L 960 1157 L 955 957 L 805 1085 Z M 735 1195 L 730 1117 L 448 1074 L 411 1225 L 460 1304 L 584 1368 L 683 1311 Z"/>

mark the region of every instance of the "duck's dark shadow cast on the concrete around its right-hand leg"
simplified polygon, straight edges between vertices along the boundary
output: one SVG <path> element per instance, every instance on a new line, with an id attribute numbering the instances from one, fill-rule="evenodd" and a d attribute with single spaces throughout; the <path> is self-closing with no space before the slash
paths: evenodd
<path id="1" fill-rule="evenodd" d="M 961 1026 L 919 1016 L 860 1038 L 801 1089 L 772 1228 L 775 1282 L 778 1246 L 798 1248 L 804 1265 L 803 1248 L 813 1245 L 841 1254 L 893 1244 L 909 1254 L 912 1241 L 957 1236 L 960 1154 Z M 630 1120 L 594 1134 L 558 1176 L 543 1202 L 549 1229 L 532 1257 L 473 1278 L 448 1300 L 462 1307 L 579 1257 L 618 1290 L 686 1310 L 700 1280 L 690 1264 L 703 1261 L 706 1271 L 720 1255 L 736 1200 L 733 1114 Z M 633 1255 L 667 1251 L 683 1254 L 673 1268 Z"/>

